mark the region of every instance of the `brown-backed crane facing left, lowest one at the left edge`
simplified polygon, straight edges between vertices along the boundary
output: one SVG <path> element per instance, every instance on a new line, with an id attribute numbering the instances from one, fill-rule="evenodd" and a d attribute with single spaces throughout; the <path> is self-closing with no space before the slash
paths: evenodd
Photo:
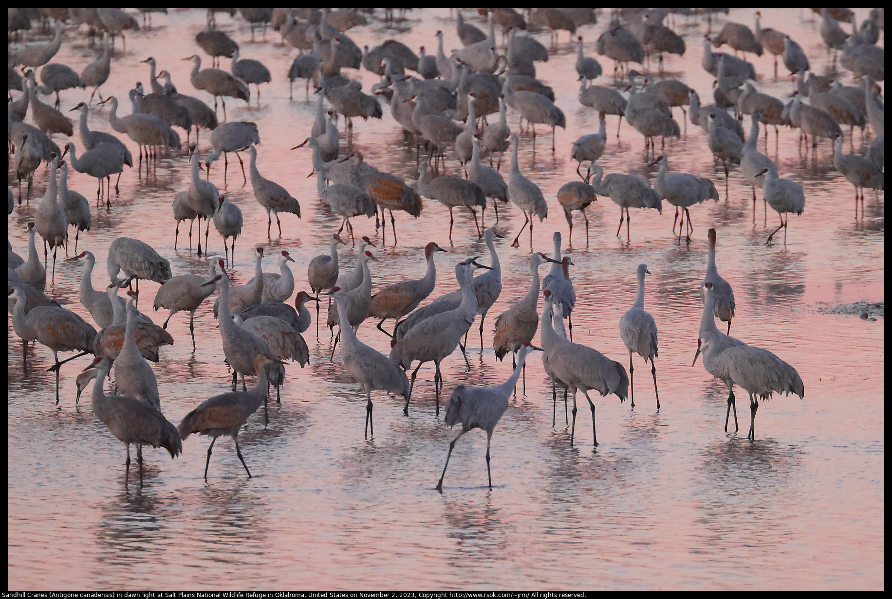
<path id="1" fill-rule="evenodd" d="M 28 341 L 37 341 L 53 352 L 56 371 L 56 405 L 59 404 L 59 371 L 63 363 L 59 362 L 60 351 L 80 351 L 89 353 L 92 350 L 96 330 L 90 324 L 70 310 L 54 306 L 38 306 L 25 314 L 25 292 L 21 287 L 13 287 L 9 293 L 12 306 L 12 329 L 22 341 L 21 363 L 26 364 Z M 66 360 L 67 361 L 67 360 Z"/>

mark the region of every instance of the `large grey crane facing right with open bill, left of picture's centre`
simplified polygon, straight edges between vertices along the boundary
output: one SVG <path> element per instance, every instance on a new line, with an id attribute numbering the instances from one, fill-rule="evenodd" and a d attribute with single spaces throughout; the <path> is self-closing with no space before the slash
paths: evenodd
<path id="1" fill-rule="evenodd" d="M 455 276 L 461 288 L 461 303 L 458 308 L 425 318 L 409 329 L 399 341 L 392 344 L 390 359 L 393 364 L 409 369 L 412 362 L 418 360 L 416 369 L 412 371 L 409 394 L 415 388 L 418 369 L 425 362 L 434 362 L 437 414 L 440 413 L 440 388 L 442 387 L 440 363 L 455 351 L 461 338 L 465 336 L 471 324 L 474 324 L 474 319 L 477 316 L 477 298 L 472 283 L 475 267 L 489 268 L 477 265 L 473 258 L 459 262 L 455 267 Z M 408 401 L 404 412 L 409 414 Z"/>

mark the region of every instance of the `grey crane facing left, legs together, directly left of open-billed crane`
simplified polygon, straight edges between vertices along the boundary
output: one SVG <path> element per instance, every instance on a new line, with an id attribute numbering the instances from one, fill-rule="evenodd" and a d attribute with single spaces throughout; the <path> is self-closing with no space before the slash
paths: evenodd
<path id="1" fill-rule="evenodd" d="M 338 320 L 341 326 L 341 354 L 343 365 L 347 372 L 359 382 L 362 390 L 366 392 L 366 432 L 368 439 L 369 430 L 375 437 L 375 423 L 372 420 L 372 391 L 383 390 L 406 398 L 409 405 L 411 389 L 406 373 L 393 365 L 389 357 L 380 351 L 368 347 L 356 337 L 353 327 L 347 318 L 347 307 L 344 305 L 346 291 L 336 286 L 332 288 L 331 295 L 335 297 L 338 312 Z"/>

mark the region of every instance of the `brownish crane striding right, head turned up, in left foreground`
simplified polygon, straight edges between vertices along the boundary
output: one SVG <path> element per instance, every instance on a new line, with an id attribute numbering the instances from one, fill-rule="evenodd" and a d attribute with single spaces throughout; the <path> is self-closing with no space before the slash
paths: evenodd
<path id="1" fill-rule="evenodd" d="M 217 275 L 217 278 L 225 278 Z M 225 285 L 224 285 L 225 286 Z M 224 286 L 221 286 L 221 290 Z M 227 316 L 227 320 L 229 320 Z M 222 321 L 221 321 L 222 323 Z M 233 327 L 235 324 L 229 321 Z M 222 328 L 222 325 L 221 325 Z M 235 327 L 237 328 L 237 327 Z M 231 391 L 221 393 L 202 402 L 192 412 L 186 414 L 178 426 L 181 439 L 186 439 L 194 432 L 213 437 L 211 446 L 208 447 L 208 459 L 204 464 L 204 478 L 208 478 L 208 465 L 211 464 L 211 449 L 221 435 L 228 435 L 235 441 L 235 453 L 244 466 L 244 472 L 251 478 L 248 464 L 244 463 L 242 450 L 238 447 L 238 431 L 241 430 L 248 417 L 257 411 L 260 404 L 267 397 L 267 369 L 270 366 L 281 364 L 276 358 L 260 354 L 253 359 L 252 370 L 257 373 L 257 382 L 250 391 Z"/>

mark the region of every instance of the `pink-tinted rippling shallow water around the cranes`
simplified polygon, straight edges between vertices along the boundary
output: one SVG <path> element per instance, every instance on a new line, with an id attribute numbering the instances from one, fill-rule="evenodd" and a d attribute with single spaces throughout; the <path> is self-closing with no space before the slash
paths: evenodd
<path id="1" fill-rule="evenodd" d="M 818 70 L 830 67 L 818 34 L 819 21 L 797 9 L 765 9 L 764 24 L 783 29 L 805 48 Z M 867 10 L 858 11 L 859 19 Z M 723 17 L 724 19 L 724 17 Z M 732 10 L 731 21 L 752 24 L 750 9 Z M 606 27 L 586 26 L 586 53 Z M 150 54 L 167 69 L 181 93 L 208 101 L 189 84 L 190 62 L 178 59 L 196 52 L 193 39 L 203 29 L 204 12 L 187 10 L 155 15 L 154 29 L 128 35 L 126 53 L 116 54 L 104 94 L 126 98 L 136 80 L 148 72 L 141 61 Z M 723 22 L 722 20 L 720 20 Z M 719 26 L 721 26 L 721 22 Z M 435 48 L 434 31 L 443 29 L 447 52 L 458 44 L 454 21 L 446 10 L 409 12 L 411 29 L 394 32 L 373 21 L 351 29 L 357 43 L 377 44 L 396 37 L 417 48 Z M 251 247 L 264 244 L 267 255 L 287 249 L 296 260 L 296 291 L 306 289 L 310 259 L 326 251 L 326 237 L 338 217 L 323 209 L 315 191 L 310 152 L 288 148 L 308 135 L 315 101 L 305 100 L 300 85 L 288 98 L 285 73 L 297 51 L 279 45 L 276 33 L 251 43 L 244 20 L 219 17 L 219 27 L 242 45 L 243 58 L 268 65 L 271 85 L 263 86 L 260 108 L 227 103 L 230 120 L 252 120 L 260 127 L 260 172 L 285 185 L 301 202 L 303 218 L 282 215 L 283 236 L 267 240 L 264 212 L 253 200 L 251 185 L 231 160 L 228 196 L 244 213 L 243 236 L 236 244 L 233 274 L 238 283 L 252 276 Z M 668 56 L 666 70 L 710 97 L 712 80 L 699 66 L 705 24 L 677 20 L 688 44 L 684 57 Z M 548 37 L 537 34 L 545 44 Z M 120 42 L 119 42 L 120 44 Z M 551 250 L 551 234 L 567 239 L 566 221 L 555 197 L 560 185 L 576 178 L 569 160 L 570 143 L 597 130 L 597 114 L 576 99 L 574 49 L 562 33 L 560 49 L 549 62 L 537 63 L 540 77 L 555 89 L 566 113 L 567 130 L 558 129 L 557 150 L 540 127 L 533 152 L 532 134 L 521 141 L 520 167 L 541 185 L 549 218 L 535 223 L 533 247 Z M 75 70 L 93 60 L 83 31 L 69 34 L 56 57 Z M 599 57 L 601 59 L 603 57 Z M 205 66 L 209 61 L 202 55 Z M 610 61 L 601 60 L 607 75 Z M 228 62 L 224 61 L 224 68 Z M 789 81 L 772 80 L 770 54 L 756 59 L 758 86 L 786 99 Z M 782 64 L 781 73 L 786 72 Z M 368 90 L 377 77 L 350 71 Z M 849 74 L 844 75 L 844 82 Z M 602 77 L 598 83 L 605 83 Z M 89 90 L 62 92 L 62 109 L 87 99 Z M 253 96 L 252 96 L 253 97 Z M 127 114 L 128 106 L 121 112 Z M 675 111 L 679 122 L 681 116 Z M 516 128 L 517 114 L 508 123 Z M 748 131 L 748 118 L 745 127 Z M 110 130 L 107 111 L 91 113 L 90 127 Z M 615 131 L 615 117 L 607 130 Z M 343 121 L 341 123 L 343 128 Z M 63 143 L 64 135 L 57 135 Z M 77 134 L 76 134 L 77 137 Z M 870 143 L 870 137 L 865 143 Z M 74 140 L 79 146 L 79 137 Z M 129 142 L 136 155 L 136 146 Z M 208 135 L 202 132 L 201 152 Z M 384 119 L 357 119 L 354 144 L 366 160 L 401 176 L 416 176 L 413 149 L 404 141 L 389 106 Z M 575 444 L 558 404 L 557 426 L 549 414 L 550 385 L 533 354 L 526 369 L 525 393 L 518 385 L 508 411 L 492 438 L 493 488 L 486 487 L 486 449 L 482 431 L 456 444 L 442 495 L 434 485 L 442 470 L 450 431 L 437 418 L 434 369 L 419 372 L 409 417 L 401 398 L 373 394 L 376 436 L 362 438 L 364 394 L 343 370 L 340 352 L 328 361 L 331 341 L 323 324 L 317 341 L 315 324 L 304 338 L 310 365 L 289 365 L 282 404 L 270 404 L 268 426 L 254 414 L 240 435 L 240 446 L 254 478 L 248 480 L 230 439 L 215 446 L 207 482 L 202 469 L 208 439 L 184 443 L 178 459 L 146 451 L 145 486 L 124 484 L 123 447 L 92 414 L 89 403 L 74 404 L 74 378 L 87 365 L 80 358 L 62 369 L 62 400 L 54 405 L 53 364 L 43 346 L 29 348 L 29 366 L 21 367 L 21 341 L 8 328 L 8 586 L 22 588 L 835 588 L 884 586 L 884 322 L 856 316 L 818 314 L 815 302 L 834 304 L 883 299 L 884 193 L 867 193 L 864 217 L 852 212 L 853 189 L 832 167 L 830 146 L 813 155 L 797 152 L 797 132 L 783 129 L 772 158 L 781 176 L 805 188 L 801 217 L 790 220 L 787 244 L 766 246 L 776 215 L 764 223 L 757 207 L 752 223 L 751 193 L 739 171 L 731 170 L 725 197 L 723 170 L 709 160 L 706 138 L 688 127 L 681 140 L 666 144 L 673 169 L 711 177 L 722 200 L 695 206 L 690 244 L 673 238 L 671 207 L 633 211 L 631 242 L 615 236 L 616 207 L 599 198 L 588 210 L 591 234 L 585 244 L 582 217 L 574 215 L 573 245 L 566 253 L 577 305 L 574 341 L 590 345 L 627 365 L 618 321 L 632 306 L 635 268 L 648 264 L 645 306 L 660 331 L 657 377 L 662 409 L 656 411 L 648 368 L 636 357 L 636 408 L 615 396 L 599 398 L 600 446 L 591 447 L 591 417 L 580 395 Z M 849 140 L 847 135 L 847 148 Z M 861 135 L 855 133 L 855 146 Z M 346 139 L 342 136 L 342 152 Z M 764 148 L 760 142 L 760 148 Z M 607 173 L 650 173 L 643 140 L 623 123 L 620 139 L 608 140 L 599 160 Z M 847 149 L 847 151 L 850 151 Z M 457 171 L 454 155 L 450 173 Z M 503 165 L 502 172 L 507 174 Z M 14 173 L 10 173 L 14 185 Z M 223 185 L 220 163 L 211 170 Z M 35 177 L 29 206 L 8 218 L 13 249 L 27 253 L 25 226 L 46 185 L 42 166 Z M 150 243 L 168 258 L 175 275 L 206 273 L 206 261 L 187 250 L 185 229 L 173 250 L 170 201 L 188 185 L 185 153 L 159 160 L 157 175 L 121 178 L 120 195 L 109 211 L 94 208 L 93 229 L 79 247 L 97 259 L 94 285 L 105 281 L 108 245 L 124 235 Z M 94 197 L 95 182 L 72 173 L 70 187 Z M 444 228 L 447 210 L 425 201 L 420 218 L 397 216 L 399 244 L 371 249 L 382 262 L 372 263 L 374 289 L 417 278 L 424 271 L 422 249 L 439 242 L 456 254 L 438 254 L 433 297 L 456 287 L 452 268 L 458 259 L 482 255 L 473 218 L 456 211 L 452 245 Z M 500 206 L 500 226 L 515 235 L 523 224 L 516 207 Z M 486 222 L 493 215 L 487 211 Z M 148 224 L 148 226 L 146 226 Z M 773 225 L 772 225 L 773 224 Z M 380 242 L 370 220 L 354 219 L 357 234 Z M 775 397 L 758 411 L 756 442 L 746 440 L 746 396 L 739 405 L 740 431 L 723 431 L 726 390 L 702 365 L 690 366 L 697 347 L 698 284 L 706 267 L 706 229 L 719 234 L 718 267 L 736 293 L 732 333 L 770 349 L 797 368 L 806 395 Z M 274 224 L 275 230 L 275 224 Z M 388 243 L 392 243 L 390 232 Z M 445 406 L 452 387 L 496 384 L 508 378 L 509 363 L 491 350 L 495 316 L 524 296 L 530 275 L 526 260 L 529 237 L 519 250 L 510 237 L 498 240 L 503 291 L 488 316 L 480 349 L 478 324 L 468 339 L 469 367 L 458 354 L 443 365 Z M 38 240 L 39 244 L 39 240 Z M 211 233 L 211 252 L 221 247 Z M 342 250 L 343 268 L 351 268 L 355 251 Z M 265 270 L 275 270 L 270 260 Z M 545 275 L 546 269 L 541 269 Z M 55 283 L 47 292 L 85 316 L 77 299 L 80 267 L 56 265 Z M 140 306 L 151 312 L 157 283 L 141 285 Z M 163 311 L 152 315 L 161 322 Z M 314 314 L 315 318 L 315 314 Z M 191 351 L 187 315 L 170 321 L 176 345 L 161 350 L 154 365 L 162 409 L 173 423 L 204 399 L 227 390 L 230 371 L 223 361 L 219 332 L 213 328 L 211 301 L 196 314 L 198 350 Z M 362 341 L 389 349 L 389 340 L 368 322 L 359 328 Z M 572 407 L 572 402 L 571 402 Z M 136 474 L 136 470 L 131 475 Z"/>

